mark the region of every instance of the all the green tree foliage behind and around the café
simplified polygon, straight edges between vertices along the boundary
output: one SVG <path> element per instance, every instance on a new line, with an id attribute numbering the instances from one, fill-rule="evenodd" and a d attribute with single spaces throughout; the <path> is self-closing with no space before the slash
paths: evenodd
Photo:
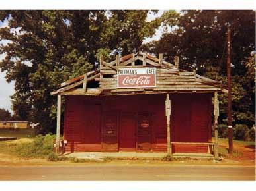
<path id="1" fill-rule="evenodd" d="M 157 11 L 153 11 L 156 13 Z M 0 68 L 7 82 L 15 81 L 11 96 L 15 116 L 39 122 L 42 133 L 54 132 L 60 83 L 99 66 L 99 55 L 114 59 L 139 51 L 164 54 L 179 67 L 226 85 L 226 30 L 232 30 L 232 117 L 234 124 L 255 124 L 255 11 L 177 13 L 147 21 L 149 11 L 0 11 Z M 159 41 L 142 44 L 160 26 L 171 28 Z M 226 94 L 220 95 L 220 123 L 226 124 Z"/>

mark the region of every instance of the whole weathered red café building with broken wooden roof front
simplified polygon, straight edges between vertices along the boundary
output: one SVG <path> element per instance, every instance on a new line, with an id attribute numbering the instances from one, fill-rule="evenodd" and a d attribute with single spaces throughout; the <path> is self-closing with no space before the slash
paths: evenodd
<path id="1" fill-rule="evenodd" d="M 212 125 L 218 123 L 218 92 L 226 91 L 221 82 L 180 70 L 178 57 L 173 64 L 162 54 L 117 56 L 110 63 L 101 57 L 99 71 L 68 80 L 52 92 L 58 94 L 57 149 L 65 96 L 65 151 L 168 151 L 218 157 Z"/>

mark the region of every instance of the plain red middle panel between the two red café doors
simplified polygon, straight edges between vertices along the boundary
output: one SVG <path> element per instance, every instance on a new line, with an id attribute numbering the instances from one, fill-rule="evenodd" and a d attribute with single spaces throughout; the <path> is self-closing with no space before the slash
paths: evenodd
<path id="1" fill-rule="evenodd" d="M 136 151 L 136 113 L 120 113 L 119 151 Z"/>

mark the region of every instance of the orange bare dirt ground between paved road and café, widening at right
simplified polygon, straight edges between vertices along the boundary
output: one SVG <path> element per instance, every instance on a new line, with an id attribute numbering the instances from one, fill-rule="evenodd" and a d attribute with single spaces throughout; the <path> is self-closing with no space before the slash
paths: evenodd
<path id="1" fill-rule="evenodd" d="M 20 139 L 13 140 L 13 142 L 30 142 L 30 139 Z M 228 148 L 227 140 L 219 141 L 220 147 Z M 58 161 L 51 162 L 46 159 L 20 159 L 14 157 L 13 155 L 7 155 L 0 153 L 0 165 L 11 165 L 11 166 L 21 166 L 21 165 L 89 165 L 89 164 L 104 164 L 104 165 L 178 165 L 178 164 L 188 164 L 188 165 L 255 165 L 255 145 L 243 144 L 243 142 L 234 142 L 234 151 L 239 151 L 234 156 L 226 156 L 221 161 L 216 161 L 212 159 L 176 159 L 175 161 L 161 161 L 153 159 L 143 159 L 143 160 L 116 160 L 111 159 L 105 162 L 99 161 L 88 161 L 85 163 L 72 163 L 71 161 Z"/>

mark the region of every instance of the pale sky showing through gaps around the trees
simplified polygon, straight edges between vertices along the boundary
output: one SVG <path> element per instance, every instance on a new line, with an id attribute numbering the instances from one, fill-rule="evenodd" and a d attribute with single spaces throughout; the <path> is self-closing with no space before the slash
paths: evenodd
<path id="1" fill-rule="evenodd" d="M 151 21 L 159 16 L 161 16 L 163 14 L 163 10 L 158 11 L 157 14 L 148 13 L 148 16 L 146 18 L 147 21 Z M 0 21 L 0 28 L 2 27 L 6 27 L 8 26 L 8 21 L 5 20 L 4 22 Z M 151 38 L 145 38 L 143 43 L 152 41 L 152 40 L 159 40 L 159 38 L 161 37 L 161 35 L 163 34 L 164 30 L 163 30 L 163 26 L 160 26 L 155 34 L 151 37 Z M 0 40 L 0 44 L 1 43 L 6 43 L 7 41 L 5 40 Z M 0 55 L 0 60 L 2 60 L 4 58 L 4 55 Z M 15 82 L 11 82 L 11 83 L 7 83 L 5 80 L 5 72 L 1 72 L 0 70 L 0 108 L 4 108 L 4 109 L 8 109 L 11 113 L 13 113 L 13 111 L 11 111 L 11 98 L 10 96 L 14 94 L 15 90 L 14 90 L 14 84 Z"/>

